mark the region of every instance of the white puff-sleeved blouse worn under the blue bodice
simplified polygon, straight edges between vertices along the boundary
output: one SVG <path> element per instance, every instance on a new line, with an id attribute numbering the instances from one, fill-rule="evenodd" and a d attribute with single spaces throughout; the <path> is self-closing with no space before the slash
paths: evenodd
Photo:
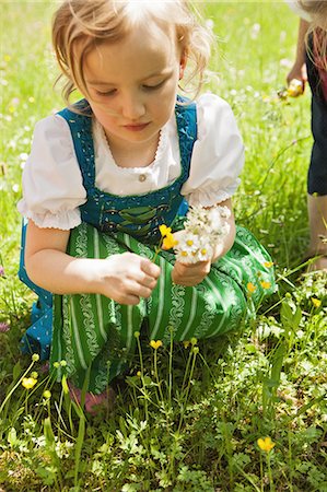
<path id="1" fill-rule="evenodd" d="M 244 148 L 234 115 L 213 94 L 197 101 L 198 138 L 182 195 L 190 206 L 213 206 L 230 198 L 240 183 Z M 119 167 L 103 128 L 93 124 L 95 186 L 118 196 L 143 195 L 167 186 L 180 174 L 175 115 L 162 128 L 154 161 L 147 167 Z M 19 211 L 39 227 L 70 230 L 81 223 L 85 203 L 81 171 L 67 121 L 59 115 L 37 122 L 32 150 L 23 171 Z"/>

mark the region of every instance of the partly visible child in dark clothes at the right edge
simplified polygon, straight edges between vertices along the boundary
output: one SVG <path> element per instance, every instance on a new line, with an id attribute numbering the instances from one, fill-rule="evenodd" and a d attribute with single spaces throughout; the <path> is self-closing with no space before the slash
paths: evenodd
<path id="1" fill-rule="evenodd" d="M 291 3 L 291 2 L 290 2 Z M 327 1 L 292 2 L 300 20 L 296 58 L 287 80 L 297 79 L 312 90 L 314 144 L 307 177 L 311 242 L 307 257 L 314 270 L 327 271 Z"/>

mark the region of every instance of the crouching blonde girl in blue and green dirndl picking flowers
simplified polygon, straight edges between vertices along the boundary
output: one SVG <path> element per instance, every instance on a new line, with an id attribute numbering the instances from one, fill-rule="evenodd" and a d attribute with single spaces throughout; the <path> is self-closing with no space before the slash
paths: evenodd
<path id="1" fill-rule="evenodd" d="M 46 355 L 51 341 L 58 378 L 65 370 L 81 388 L 87 377 L 100 395 L 130 362 L 141 328 L 163 342 L 237 329 L 275 280 L 269 255 L 235 232 L 232 213 L 210 261 L 155 254 L 160 225 L 183 227 L 185 199 L 232 212 L 243 166 L 229 105 L 177 95 L 187 65 L 199 90 L 210 51 L 188 2 L 66 0 L 52 39 L 66 99 L 75 89 L 84 98 L 37 124 L 24 168 L 19 210 L 33 283 L 21 274 L 40 294 L 25 342 Z"/>

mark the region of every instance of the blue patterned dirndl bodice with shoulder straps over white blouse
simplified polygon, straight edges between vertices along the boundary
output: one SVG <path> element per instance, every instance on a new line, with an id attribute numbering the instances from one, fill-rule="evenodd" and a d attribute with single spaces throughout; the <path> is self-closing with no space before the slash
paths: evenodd
<path id="1" fill-rule="evenodd" d="M 178 96 L 178 102 L 187 99 Z M 86 190 L 86 202 L 80 207 L 83 222 L 102 232 L 126 232 L 144 243 L 157 243 L 161 224 L 172 225 L 187 207 L 180 188 L 189 175 L 192 147 L 197 138 L 196 105 L 176 104 L 175 115 L 180 153 L 180 175 L 164 188 L 144 195 L 116 196 L 95 186 L 92 113 L 85 99 L 77 103 L 79 114 L 66 108 L 59 113 L 71 131 L 74 151 Z M 82 113 L 82 114 L 81 114 Z"/>

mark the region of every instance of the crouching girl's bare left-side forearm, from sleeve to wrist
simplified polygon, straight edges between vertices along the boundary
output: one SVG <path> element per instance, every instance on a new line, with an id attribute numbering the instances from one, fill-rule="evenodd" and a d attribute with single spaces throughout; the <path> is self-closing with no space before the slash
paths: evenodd
<path id="1" fill-rule="evenodd" d="M 55 294 L 98 292 L 103 261 L 73 258 L 56 249 L 43 249 L 25 260 L 30 279 Z"/>

